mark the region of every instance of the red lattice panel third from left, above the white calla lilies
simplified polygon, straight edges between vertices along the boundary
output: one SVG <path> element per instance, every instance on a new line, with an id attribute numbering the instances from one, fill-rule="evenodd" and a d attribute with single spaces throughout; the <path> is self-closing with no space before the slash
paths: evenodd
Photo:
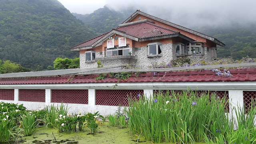
<path id="1" fill-rule="evenodd" d="M 88 104 L 88 90 L 52 90 L 52 102 Z"/>

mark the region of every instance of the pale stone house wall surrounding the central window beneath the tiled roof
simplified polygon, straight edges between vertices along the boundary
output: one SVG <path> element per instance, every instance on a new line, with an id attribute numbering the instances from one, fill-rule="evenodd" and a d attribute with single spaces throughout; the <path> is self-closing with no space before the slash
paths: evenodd
<path id="1" fill-rule="evenodd" d="M 147 47 L 141 47 L 141 51 L 134 52 L 138 55 L 138 60 L 136 63 L 137 68 L 149 68 L 156 64 L 168 64 L 172 59 L 176 58 L 175 44 L 163 44 L 162 45 L 162 56 L 148 58 Z"/>

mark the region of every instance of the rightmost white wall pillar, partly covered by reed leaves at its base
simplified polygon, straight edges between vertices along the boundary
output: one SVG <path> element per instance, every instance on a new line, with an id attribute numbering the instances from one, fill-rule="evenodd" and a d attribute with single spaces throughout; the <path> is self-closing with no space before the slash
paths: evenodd
<path id="1" fill-rule="evenodd" d="M 233 115 L 234 118 L 234 129 L 237 129 L 237 118 L 236 118 L 236 111 L 241 108 L 244 109 L 244 97 L 243 97 L 243 90 L 229 90 L 229 112 L 230 116 Z M 242 111 L 243 112 L 243 111 Z M 229 117 L 232 118 L 232 117 Z"/>

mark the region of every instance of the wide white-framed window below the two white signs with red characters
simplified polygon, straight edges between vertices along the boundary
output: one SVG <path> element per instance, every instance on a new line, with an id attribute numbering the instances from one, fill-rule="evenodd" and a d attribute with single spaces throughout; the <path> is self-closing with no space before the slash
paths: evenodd
<path id="1" fill-rule="evenodd" d="M 106 56 L 124 56 L 129 55 L 129 45 L 115 48 L 107 48 Z"/>

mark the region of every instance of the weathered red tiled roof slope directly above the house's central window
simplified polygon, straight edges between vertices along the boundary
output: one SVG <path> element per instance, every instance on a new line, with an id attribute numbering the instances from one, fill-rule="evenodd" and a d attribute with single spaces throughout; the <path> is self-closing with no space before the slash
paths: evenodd
<path id="1" fill-rule="evenodd" d="M 125 34 L 133 36 L 135 38 L 150 38 L 155 36 L 165 36 L 179 33 L 177 31 L 164 28 L 150 22 L 122 26 L 117 28 L 116 30 L 124 32 Z"/>

